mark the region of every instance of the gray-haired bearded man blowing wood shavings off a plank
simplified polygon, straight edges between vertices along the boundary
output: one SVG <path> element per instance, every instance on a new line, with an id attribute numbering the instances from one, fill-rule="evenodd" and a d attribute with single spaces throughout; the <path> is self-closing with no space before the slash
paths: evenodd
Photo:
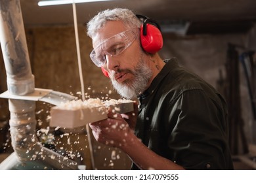
<path id="1" fill-rule="evenodd" d="M 110 111 L 107 120 L 90 124 L 96 141 L 123 150 L 133 169 L 233 169 L 223 97 L 176 59 L 161 59 L 161 45 L 148 51 L 145 26 L 149 34 L 159 27 L 141 18 L 115 8 L 87 24 L 93 62 L 120 95 L 140 103 L 139 111 Z"/>

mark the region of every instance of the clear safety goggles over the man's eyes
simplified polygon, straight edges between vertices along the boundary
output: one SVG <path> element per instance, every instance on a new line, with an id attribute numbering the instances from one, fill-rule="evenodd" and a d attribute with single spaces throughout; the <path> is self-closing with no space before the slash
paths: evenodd
<path id="1" fill-rule="evenodd" d="M 106 55 L 114 57 L 128 48 L 139 33 L 138 29 L 129 29 L 101 42 L 91 52 L 90 58 L 96 66 L 102 67 L 106 63 Z"/>

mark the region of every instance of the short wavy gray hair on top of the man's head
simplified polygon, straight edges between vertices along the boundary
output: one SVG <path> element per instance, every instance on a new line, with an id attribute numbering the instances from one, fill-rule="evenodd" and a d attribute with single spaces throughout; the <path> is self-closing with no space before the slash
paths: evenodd
<path id="1" fill-rule="evenodd" d="M 139 18 L 127 8 L 107 9 L 99 12 L 88 22 L 87 35 L 92 38 L 97 33 L 98 29 L 104 27 L 106 22 L 110 20 L 120 20 L 124 25 L 131 28 L 139 28 L 141 25 Z"/>

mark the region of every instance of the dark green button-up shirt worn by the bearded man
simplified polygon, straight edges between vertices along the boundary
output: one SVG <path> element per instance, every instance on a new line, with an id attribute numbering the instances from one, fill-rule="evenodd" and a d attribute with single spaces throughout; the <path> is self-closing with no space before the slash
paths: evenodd
<path id="1" fill-rule="evenodd" d="M 185 169 L 233 169 L 223 97 L 175 59 L 166 62 L 139 96 L 135 134 Z"/>

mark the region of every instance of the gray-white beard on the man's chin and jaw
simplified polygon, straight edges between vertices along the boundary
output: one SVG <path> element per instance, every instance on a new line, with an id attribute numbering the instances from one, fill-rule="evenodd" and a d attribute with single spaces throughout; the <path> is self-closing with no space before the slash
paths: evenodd
<path id="1" fill-rule="evenodd" d="M 126 99 L 133 99 L 146 90 L 153 73 L 142 59 L 140 59 L 134 71 L 129 70 L 129 73 L 135 76 L 135 80 L 126 80 L 124 83 L 119 84 L 111 78 L 111 82 L 119 95 Z"/>

